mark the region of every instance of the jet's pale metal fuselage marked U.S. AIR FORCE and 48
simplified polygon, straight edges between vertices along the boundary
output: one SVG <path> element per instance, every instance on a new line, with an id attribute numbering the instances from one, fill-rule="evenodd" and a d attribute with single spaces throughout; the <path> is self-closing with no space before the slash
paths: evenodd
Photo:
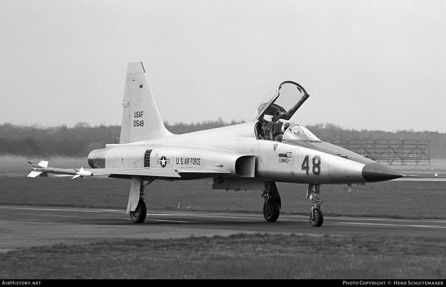
<path id="1" fill-rule="evenodd" d="M 254 133 L 255 124 L 251 122 L 161 139 L 107 145 L 106 149 L 93 151 L 89 158 L 103 158 L 104 165 L 95 166 L 99 168 L 175 170 L 182 175 L 178 179 L 223 176 L 310 184 L 380 181 L 376 178 L 370 180 L 367 175 L 364 177 L 364 166 L 369 163 L 380 165 L 371 159 L 325 142 L 258 140 Z M 149 158 L 147 155 L 145 158 L 147 151 L 150 151 Z M 235 164 L 241 156 L 245 157 L 243 163 L 248 166 L 240 168 L 240 164 Z M 254 162 L 250 163 L 249 156 Z M 386 169 L 385 166 L 382 168 Z M 187 173 L 188 169 L 202 173 L 191 175 Z M 212 171 L 225 171 L 227 174 Z"/>

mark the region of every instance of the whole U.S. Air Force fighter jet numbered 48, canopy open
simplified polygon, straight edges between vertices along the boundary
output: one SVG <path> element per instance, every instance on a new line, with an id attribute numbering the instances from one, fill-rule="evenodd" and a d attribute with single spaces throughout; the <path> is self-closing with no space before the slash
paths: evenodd
<path id="1" fill-rule="evenodd" d="M 91 169 L 58 169 L 32 164 L 29 177 L 109 176 L 130 179 L 127 213 L 135 223 L 146 217 L 144 191 L 154 180 L 213 178 L 213 189 L 257 190 L 265 220 L 276 221 L 281 197 L 276 182 L 308 184 L 310 224 L 319 227 L 321 184 L 365 184 L 400 178 L 372 159 L 321 141 L 302 125 L 287 121 L 308 99 L 298 83 L 280 83 L 261 102 L 254 121 L 175 135 L 164 126 L 142 62 L 129 62 L 119 144 L 88 155 Z"/>

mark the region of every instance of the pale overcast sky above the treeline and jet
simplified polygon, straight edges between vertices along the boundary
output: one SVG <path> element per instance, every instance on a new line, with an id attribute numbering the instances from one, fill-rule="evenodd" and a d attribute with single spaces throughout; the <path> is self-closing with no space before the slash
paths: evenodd
<path id="1" fill-rule="evenodd" d="M 293 80 L 291 122 L 446 132 L 446 1 L 17 1 L 0 9 L 0 124 L 120 125 L 127 62 L 164 121 L 251 121 Z"/>

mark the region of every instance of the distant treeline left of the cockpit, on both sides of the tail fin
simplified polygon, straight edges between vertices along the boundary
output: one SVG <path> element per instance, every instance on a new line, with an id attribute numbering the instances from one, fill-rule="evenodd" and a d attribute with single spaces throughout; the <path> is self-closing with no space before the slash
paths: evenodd
<path id="1" fill-rule="evenodd" d="M 164 125 L 171 133 L 191 133 L 203 129 L 220 128 L 236 125 L 244 121 L 216 121 L 199 123 L 175 123 Z M 91 150 L 102 149 L 106 144 L 116 143 L 121 133 L 120 125 L 96 125 L 79 122 L 74 127 L 66 125 L 57 127 L 0 125 L 0 155 L 33 156 L 69 156 L 86 157 Z"/>

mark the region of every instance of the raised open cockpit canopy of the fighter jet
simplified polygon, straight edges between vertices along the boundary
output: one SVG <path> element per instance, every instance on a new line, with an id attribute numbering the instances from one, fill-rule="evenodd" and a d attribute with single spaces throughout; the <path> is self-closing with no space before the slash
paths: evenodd
<path id="1" fill-rule="evenodd" d="M 303 93 L 303 95 L 301 95 Z M 310 95 L 296 82 L 285 81 L 266 96 L 257 108 L 255 120 L 264 115 L 288 121 Z"/>

